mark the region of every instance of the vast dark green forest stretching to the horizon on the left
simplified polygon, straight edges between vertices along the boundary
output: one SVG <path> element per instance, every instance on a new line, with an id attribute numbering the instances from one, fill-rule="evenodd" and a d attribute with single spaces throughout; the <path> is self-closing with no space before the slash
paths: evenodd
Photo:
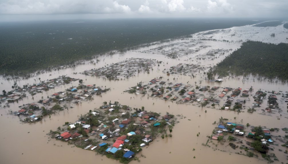
<path id="1" fill-rule="evenodd" d="M 24 74 L 111 50 L 258 22 L 240 19 L 99 19 L 2 22 L 0 74 Z"/>

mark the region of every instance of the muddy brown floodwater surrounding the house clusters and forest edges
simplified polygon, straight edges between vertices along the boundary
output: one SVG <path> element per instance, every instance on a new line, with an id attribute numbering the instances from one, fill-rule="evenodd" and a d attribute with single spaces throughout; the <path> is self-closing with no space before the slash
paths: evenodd
<path id="1" fill-rule="evenodd" d="M 199 35 L 193 34 L 192 38 L 187 38 L 185 40 L 173 40 L 172 42 L 166 42 L 163 44 L 142 48 L 140 50 L 130 51 L 126 54 L 100 56 L 98 57 L 100 62 L 98 62 L 96 65 L 89 64 L 87 62 L 87 64 L 79 65 L 75 68 L 47 72 L 41 75 L 37 75 L 37 77 L 26 80 L 19 80 L 18 85 L 22 86 L 28 83 L 37 83 L 39 81 L 39 77 L 41 78 L 41 80 L 46 80 L 56 78 L 59 75 L 67 75 L 69 77 L 83 79 L 83 83 L 85 85 L 96 84 L 96 86 L 110 87 L 111 91 L 108 91 L 101 96 L 95 95 L 94 100 L 92 101 L 82 102 L 81 104 L 74 105 L 74 108 L 69 109 L 69 111 L 64 110 L 57 114 L 53 114 L 51 118 L 46 117 L 41 122 L 37 122 L 35 124 L 22 124 L 17 116 L 12 116 L 8 114 L 9 110 L 17 111 L 19 110 L 18 106 L 21 106 L 22 104 L 38 101 L 39 99 L 41 99 L 41 96 L 47 97 L 47 95 L 51 95 L 58 91 L 63 91 L 66 88 L 71 87 L 72 85 L 78 85 L 78 82 L 76 81 L 71 84 L 56 87 L 55 89 L 49 90 L 47 92 L 38 93 L 37 95 L 34 95 L 34 100 L 31 99 L 31 96 L 28 96 L 28 98 L 24 98 L 23 101 L 19 101 L 19 103 L 10 104 L 10 108 L 3 108 L 2 104 L 0 109 L 0 124 L 2 124 L 0 134 L 0 163 L 119 163 L 118 161 L 108 159 L 105 156 L 96 155 L 96 153 L 93 151 L 76 148 L 73 147 L 73 145 L 67 145 L 66 142 L 57 141 L 54 138 L 51 139 L 48 135 L 46 135 L 51 129 L 55 130 L 58 126 L 62 126 L 65 122 L 75 122 L 79 115 L 85 114 L 89 110 L 93 110 L 94 108 L 98 108 L 99 106 L 101 106 L 103 101 L 110 100 L 111 102 L 119 101 L 120 104 L 129 105 L 132 108 L 139 108 L 141 106 L 144 106 L 145 110 L 147 111 L 151 110 L 154 112 L 160 112 L 162 114 L 169 112 L 170 114 L 174 114 L 175 116 L 178 114 L 182 115 L 181 117 L 178 117 L 178 121 L 180 123 L 175 125 L 172 132 L 172 138 L 162 139 L 159 137 L 154 140 L 149 147 L 145 147 L 143 149 L 141 153 L 145 155 L 145 157 L 139 158 L 141 160 L 141 163 L 267 163 L 267 161 L 263 160 L 261 155 L 257 159 L 235 154 L 235 152 L 239 152 L 240 150 L 233 150 L 231 147 L 227 146 L 228 142 L 225 142 L 224 145 L 221 145 L 217 144 L 217 141 L 213 141 L 214 144 L 209 143 L 211 147 L 205 147 L 202 145 L 202 143 L 206 143 L 208 139 L 206 136 L 210 136 L 212 130 L 215 128 L 215 126 L 217 126 L 217 124 L 213 125 L 212 123 L 214 121 L 218 122 L 221 116 L 223 118 L 228 118 L 230 122 L 236 122 L 244 125 L 246 125 L 246 123 L 249 123 L 253 126 L 261 125 L 266 126 L 267 128 L 280 129 L 288 127 L 287 108 L 285 106 L 284 100 L 279 99 L 281 97 L 280 95 L 278 95 L 278 103 L 283 111 L 274 112 L 274 114 L 266 113 L 264 115 L 261 109 L 265 109 L 267 107 L 267 100 L 264 100 L 262 107 L 256 108 L 257 111 L 253 114 L 247 113 L 247 108 L 251 107 L 251 104 L 253 103 L 252 96 L 248 97 L 249 99 L 251 99 L 251 101 L 246 102 L 245 109 L 243 109 L 243 112 L 240 112 L 239 114 L 234 111 L 218 110 L 219 108 L 221 108 L 221 105 L 225 103 L 224 98 L 221 99 L 217 97 L 217 93 L 220 93 L 221 88 L 217 91 L 216 95 L 213 96 L 220 100 L 220 105 L 216 105 L 215 109 L 211 107 L 209 108 L 209 105 L 201 108 L 201 106 L 199 107 L 196 104 L 176 104 L 172 101 L 164 101 L 163 99 L 152 98 L 148 95 L 129 94 L 123 91 L 131 86 L 136 85 L 136 83 L 140 81 L 148 82 L 153 78 L 162 76 L 162 80 L 164 81 L 167 81 L 169 79 L 169 81 L 173 83 L 184 83 L 191 85 L 195 85 L 196 82 L 198 85 L 201 86 L 209 85 L 211 87 L 219 86 L 232 88 L 241 87 L 242 89 L 249 89 L 251 86 L 253 86 L 254 91 L 251 92 L 251 94 L 255 94 L 258 89 L 266 91 L 283 91 L 283 93 L 285 93 L 285 91 L 288 91 L 288 84 L 275 81 L 268 82 L 267 80 L 258 81 L 255 77 L 251 76 L 248 78 L 226 77 L 223 78 L 222 83 L 211 83 L 208 80 L 204 79 L 203 72 L 195 73 L 196 77 L 192 78 L 185 75 L 175 74 L 167 76 L 166 73 L 162 73 L 162 71 L 179 63 L 198 64 L 201 67 L 213 66 L 217 62 L 221 61 L 229 53 L 231 53 L 232 50 L 229 52 L 224 52 L 223 55 L 219 55 L 219 57 L 217 56 L 218 58 L 215 58 L 214 60 L 197 59 L 197 55 L 205 55 L 207 52 L 209 52 L 209 50 L 216 50 L 218 48 L 227 50 L 232 48 L 233 50 L 235 50 L 241 45 L 241 41 L 239 40 L 245 41 L 247 39 L 250 39 L 272 43 L 287 43 L 287 31 L 287 29 L 285 31 L 283 26 L 267 28 L 242 26 L 219 30 L 216 33 L 212 32 L 206 35 L 201 35 L 198 33 Z M 271 33 L 275 33 L 275 38 L 270 37 Z M 235 34 L 235 36 L 230 36 L 231 34 Z M 209 37 L 211 37 L 212 39 L 215 38 L 218 41 L 199 40 L 201 38 Z M 233 39 L 233 37 L 235 38 Z M 224 39 L 230 40 L 230 42 L 220 41 Z M 195 47 L 195 49 L 198 47 L 199 51 L 191 51 L 191 53 L 185 54 L 189 52 L 190 47 L 193 47 L 192 45 Z M 161 46 L 164 46 L 162 50 L 165 51 L 157 50 L 157 47 L 159 48 Z M 193 50 L 193 48 L 190 49 Z M 177 52 L 177 55 L 179 57 L 176 59 L 168 58 L 165 56 L 165 54 L 163 54 L 166 51 Z M 185 53 L 182 53 L 182 51 Z M 163 63 L 160 66 L 155 66 L 149 74 L 140 73 L 135 77 L 130 77 L 129 79 L 125 79 L 122 81 L 109 81 L 98 77 L 91 77 L 79 74 L 85 70 L 103 67 L 107 64 L 109 65 L 111 63 L 117 63 L 131 57 L 151 58 L 163 61 Z M 73 74 L 76 72 L 77 74 Z M 173 80 L 174 77 L 175 80 Z M 14 83 L 13 81 L 7 81 L 5 79 L 2 79 L 1 82 L 1 91 L 3 89 L 9 91 Z M 238 97 L 238 99 L 242 98 Z M 207 113 L 204 112 L 205 110 L 207 110 Z M 282 116 L 280 116 L 280 114 Z M 235 120 L 234 117 L 236 117 Z M 249 129 L 246 130 L 249 132 Z M 200 132 L 200 135 L 196 136 L 198 132 Z M 285 133 L 282 130 L 280 130 L 278 133 L 272 132 L 272 136 L 278 135 L 284 136 Z M 242 140 L 243 144 L 245 145 L 245 141 L 249 139 L 247 139 L 246 137 L 242 137 Z M 272 146 L 274 147 L 274 151 L 270 151 L 272 153 L 275 153 L 277 158 L 279 159 L 279 162 L 275 161 L 275 163 L 287 163 L 287 154 L 283 153 L 285 150 L 287 150 L 287 148 L 280 146 L 283 143 L 277 140 L 275 140 L 275 142 L 278 143 L 279 146 L 275 145 L 275 143 Z M 195 149 L 195 151 L 193 151 L 193 148 Z M 217 148 L 219 150 L 214 150 L 213 148 Z M 282 149 L 283 152 L 278 151 L 278 149 Z M 245 153 L 244 150 L 242 151 L 243 153 Z M 131 163 L 135 164 L 138 162 L 132 161 Z"/>

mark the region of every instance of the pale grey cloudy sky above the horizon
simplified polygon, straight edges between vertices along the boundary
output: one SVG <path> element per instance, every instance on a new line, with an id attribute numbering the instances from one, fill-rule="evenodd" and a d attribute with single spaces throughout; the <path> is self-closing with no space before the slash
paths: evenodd
<path id="1" fill-rule="evenodd" d="M 287 17 L 287 7 L 288 0 L 0 0 L 0 18 Z"/>

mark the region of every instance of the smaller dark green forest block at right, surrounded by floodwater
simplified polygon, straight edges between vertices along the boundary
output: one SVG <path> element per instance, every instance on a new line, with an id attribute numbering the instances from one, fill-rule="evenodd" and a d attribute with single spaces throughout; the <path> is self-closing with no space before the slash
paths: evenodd
<path id="1" fill-rule="evenodd" d="M 217 64 L 215 73 L 243 75 L 252 73 L 288 80 L 288 44 L 248 41 Z"/>

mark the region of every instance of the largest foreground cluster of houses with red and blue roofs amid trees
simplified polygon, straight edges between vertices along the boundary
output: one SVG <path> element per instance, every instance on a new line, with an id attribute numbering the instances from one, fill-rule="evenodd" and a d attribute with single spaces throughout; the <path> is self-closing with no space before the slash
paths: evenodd
<path id="1" fill-rule="evenodd" d="M 131 109 L 117 101 L 105 101 L 99 109 L 90 110 L 75 123 L 50 131 L 52 137 L 68 141 L 77 147 L 128 163 L 141 147 L 151 144 L 158 136 L 172 137 L 176 118 L 147 112 L 144 107 Z M 168 131 L 168 132 L 167 132 Z"/>

